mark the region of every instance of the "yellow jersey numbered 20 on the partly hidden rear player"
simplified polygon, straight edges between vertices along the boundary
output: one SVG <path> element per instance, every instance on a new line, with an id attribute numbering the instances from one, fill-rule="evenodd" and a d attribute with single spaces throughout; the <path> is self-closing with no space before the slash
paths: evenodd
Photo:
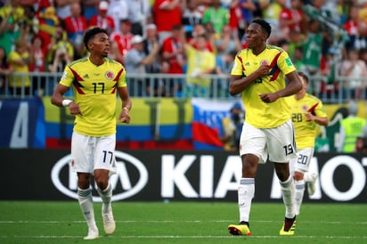
<path id="1" fill-rule="evenodd" d="M 306 121 L 306 112 L 312 112 L 317 117 L 327 117 L 321 100 L 311 94 L 306 94 L 297 100 L 295 95 L 286 97 L 290 106 L 293 126 L 296 131 L 296 143 L 298 149 L 314 148 L 314 140 L 319 125 L 314 121 Z"/>

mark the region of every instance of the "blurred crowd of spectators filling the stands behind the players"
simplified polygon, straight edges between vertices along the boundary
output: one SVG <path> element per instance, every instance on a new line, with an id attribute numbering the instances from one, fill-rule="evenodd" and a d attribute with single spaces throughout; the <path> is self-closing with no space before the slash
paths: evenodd
<path id="1" fill-rule="evenodd" d="M 205 95 L 210 80 L 202 76 L 230 73 L 255 18 L 271 23 L 268 43 L 289 52 L 298 70 L 327 77 L 314 93 L 346 85 L 338 83 L 339 75 L 350 78 L 354 97 L 363 96 L 367 0 L 3 1 L 0 82 L 4 86 L 12 71 L 61 72 L 66 63 L 87 55 L 83 34 L 99 26 L 110 35 L 110 57 L 127 73 L 186 74 L 191 78 L 183 92 Z M 169 80 L 153 85 L 161 82 Z M 13 77 L 9 85 L 18 89 L 21 81 Z"/>

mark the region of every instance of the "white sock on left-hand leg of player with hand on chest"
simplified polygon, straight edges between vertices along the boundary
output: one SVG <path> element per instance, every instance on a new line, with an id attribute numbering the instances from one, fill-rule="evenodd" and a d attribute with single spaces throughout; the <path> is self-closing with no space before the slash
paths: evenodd
<path id="1" fill-rule="evenodd" d="M 240 207 L 240 222 L 249 222 L 249 211 L 251 209 L 251 201 L 255 195 L 255 179 L 241 178 L 238 190 L 238 201 Z"/>

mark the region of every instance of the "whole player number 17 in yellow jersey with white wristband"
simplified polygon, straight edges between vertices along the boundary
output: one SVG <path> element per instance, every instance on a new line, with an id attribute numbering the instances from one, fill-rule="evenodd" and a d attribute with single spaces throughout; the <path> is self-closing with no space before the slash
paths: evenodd
<path id="1" fill-rule="evenodd" d="M 126 71 L 117 61 L 110 60 L 110 40 L 103 28 L 86 31 L 84 45 L 90 55 L 69 63 L 57 85 L 51 102 L 69 107 L 75 115 L 71 137 L 71 168 L 77 172 L 77 196 L 88 225 L 85 240 L 99 237 L 94 220 L 91 176 L 102 198 L 102 219 L 106 234 L 115 232 L 112 215 L 110 175 L 116 172 L 116 101 L 122 101 L 120 123 L 129 123 L 132 102 L 126 86 Z M 75 100 L 63 95 L 72 86 Z"/>

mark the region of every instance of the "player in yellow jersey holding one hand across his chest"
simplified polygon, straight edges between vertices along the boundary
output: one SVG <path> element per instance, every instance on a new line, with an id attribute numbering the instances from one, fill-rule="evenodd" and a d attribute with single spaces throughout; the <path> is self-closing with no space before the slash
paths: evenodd
<path id="1" fill-rule="evenodd" d="M 231 71 L 229 92 L 241 94 L 246 110 L 240 139 L 242 176 L 238 189 L 240 224 L 231 224 L 232 235 L 250 235 L 249 212 L 255 195 L 255 177 L 259 163 L 273 162 L 281 183 L 285 220 L 281 235 L 294 234 L 294 183 L 289 159 L 297 157 L 294 127 L 286 96 L 301 88 L 298 72 L 288 53 L 267 45 L 271 26 L 265 20 L 253 20 L 247 29 L 248 48 L 237 53 Z M 286 85 L 285 77 L 288 80 Z"/>

